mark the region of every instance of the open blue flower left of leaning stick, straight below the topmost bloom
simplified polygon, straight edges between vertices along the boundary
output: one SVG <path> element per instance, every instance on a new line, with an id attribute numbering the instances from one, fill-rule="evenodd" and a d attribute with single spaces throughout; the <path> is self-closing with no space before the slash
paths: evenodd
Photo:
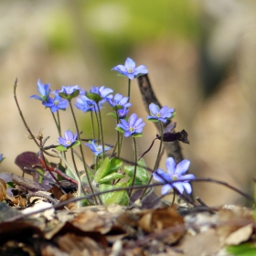
<path id="1" fill-rule="evenodd" d="M 124 137 L 136 136 L 143 133 L 143 119 L 138 119 L 135 113 L 131 114 L 128 122 L 124 119 L 121 119 L 120 122 L 117 124 L 117 130 L 124 133 Z"/>

